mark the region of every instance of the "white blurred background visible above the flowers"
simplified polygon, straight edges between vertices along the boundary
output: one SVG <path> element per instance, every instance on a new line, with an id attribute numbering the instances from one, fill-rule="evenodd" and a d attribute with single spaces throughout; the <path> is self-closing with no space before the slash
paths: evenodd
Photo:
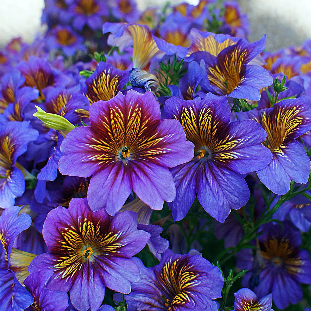
<path id="1" fill-rule="evenodd" d="M 105 1 L 105 0 L 103 0 Z M 138 0 L 140 9 L 161 6 L 166 0 Z M 172 0 L 171 3 L 184 1 Z M 198 0 L 188 1 L 196 5 Z M 239 0 L 248 14 L 252 34 L 250 41 L 267 34 L 267 49 L 299 45 L 311 39 L 311 0 Z M 44 0 L 0 0 L 0 46 L 12 37 L 22 36 L 31 42 L 40 31 Z"/>

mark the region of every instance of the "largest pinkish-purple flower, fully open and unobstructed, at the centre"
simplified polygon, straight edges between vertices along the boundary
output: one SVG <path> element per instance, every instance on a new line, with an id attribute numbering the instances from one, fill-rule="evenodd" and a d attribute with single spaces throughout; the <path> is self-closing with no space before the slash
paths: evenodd
<path id="1" fill-rule="evenodd" d="M 91 178 L 87 192 L 92 210 L 106 207 L 114 215 L 132 189 L 152 209 L 173 201 L 169 167 L 193 157 L 176 120 L 160 120 L 160 105 L 151 92 L 129 90 L 91 104 L 90 127 L 75 128 L 61 145 L 62 174 Z M 178 156 L 176 156 L 178 155 Z"/>

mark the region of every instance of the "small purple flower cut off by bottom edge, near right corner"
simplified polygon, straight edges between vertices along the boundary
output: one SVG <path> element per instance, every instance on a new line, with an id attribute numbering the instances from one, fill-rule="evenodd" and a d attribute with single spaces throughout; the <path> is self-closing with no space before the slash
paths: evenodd
<path id="1" fill-rule="evenodd" d="M 233 311 L 273 311 L 272 294 L 268 294 L 260 299 L 248 288 L 241 288 L 234 293 Z"/>

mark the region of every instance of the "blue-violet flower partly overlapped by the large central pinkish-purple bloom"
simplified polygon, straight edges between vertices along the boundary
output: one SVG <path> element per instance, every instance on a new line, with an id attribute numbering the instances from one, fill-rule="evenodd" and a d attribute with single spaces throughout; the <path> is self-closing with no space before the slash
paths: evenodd
<path id="1" fill-rule="evenodd" d="M 168 204 L 174 220 L 187 214 L 197 195 L 202 207 L 224 222 L 230 208 L 239 209 L 249 199 L 241 174 L 265 167 L 272 158 L 261 145 L 266 133 L 255 122 L 229 123 L 225 96 L 207 94 L 203 100 L 187 101 L 173 97 L 165 102 L 164 112 L 166 118 L 179 120 L 195 146 L 190 162 L 171 169 L 176 199 Z"/>

